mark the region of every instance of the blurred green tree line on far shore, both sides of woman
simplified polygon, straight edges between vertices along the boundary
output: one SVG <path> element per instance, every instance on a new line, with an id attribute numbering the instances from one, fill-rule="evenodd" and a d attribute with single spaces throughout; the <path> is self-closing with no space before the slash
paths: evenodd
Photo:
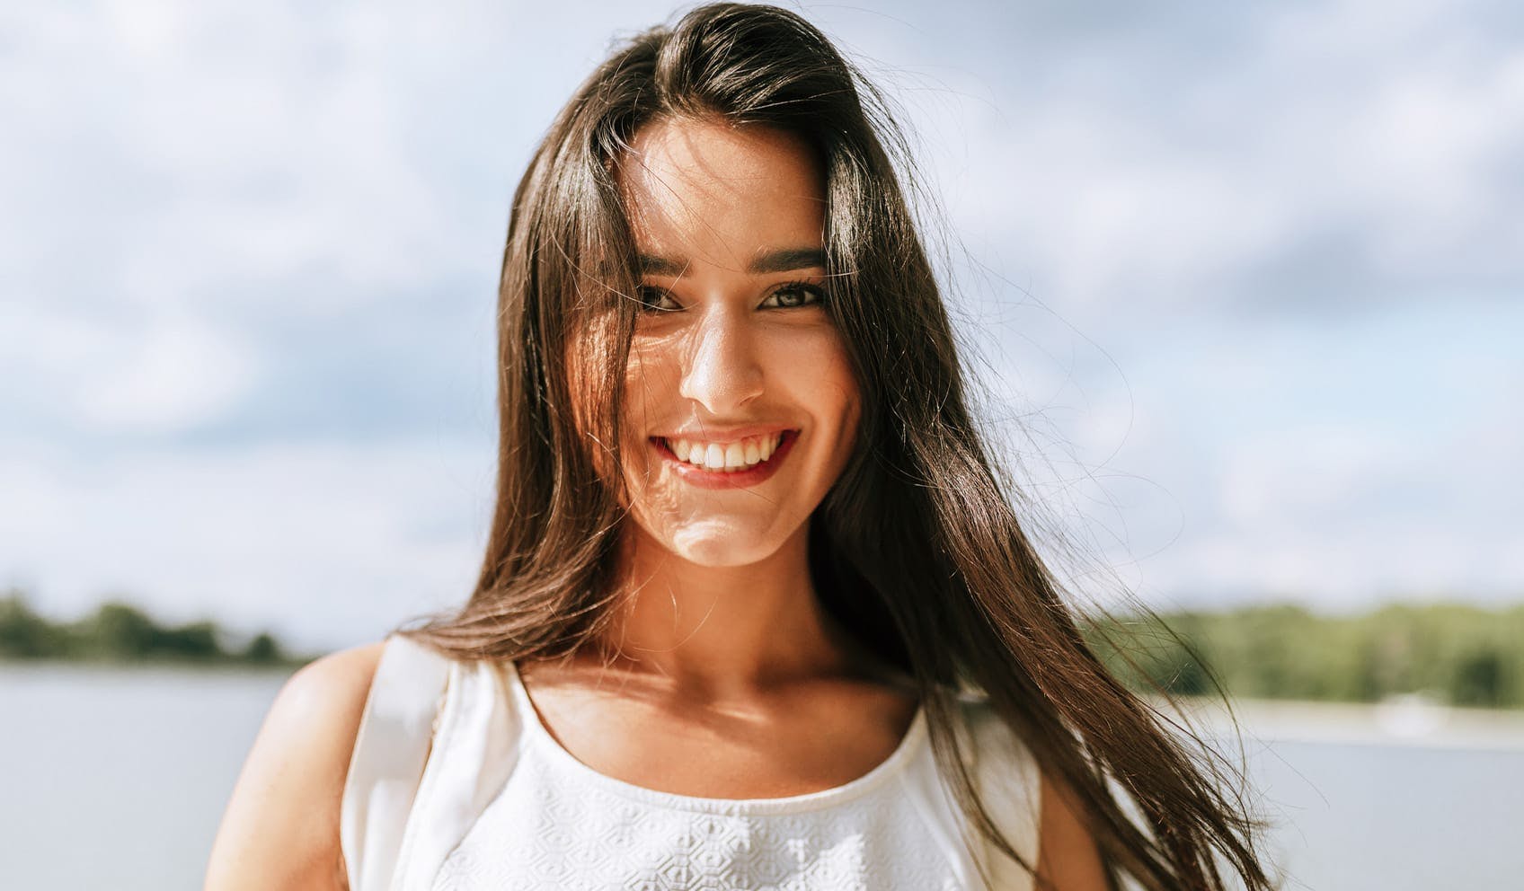
<path id="1" fill-rule="evenodd" d="M 1524 708 L 1524 603 L 1391 603 L 1358 615 L 1295 605 L 1087 617 L 1081 634 L 1125 684 L 1184 696 L 1378 702 L 1423 693 L 1452 705 Z M 215 621 L 163 624 L 111 600 L 53 621 L 20 591 L 0 594 L 0 659 L 294 667 L 271 634 Z"/>

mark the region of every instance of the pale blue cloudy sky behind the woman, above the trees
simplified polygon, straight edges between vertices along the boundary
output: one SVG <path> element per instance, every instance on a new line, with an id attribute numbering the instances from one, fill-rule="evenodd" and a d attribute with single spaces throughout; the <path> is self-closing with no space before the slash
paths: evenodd
<path id="1" fill-rule="evenodd" d="M 1516 5 L 792 8 L 911 131 L 1076 597 L 1524 599 Z M 0 8 L 0 588 L 308 647 L 460 603 L 512 189 L 672 12 Z"/>

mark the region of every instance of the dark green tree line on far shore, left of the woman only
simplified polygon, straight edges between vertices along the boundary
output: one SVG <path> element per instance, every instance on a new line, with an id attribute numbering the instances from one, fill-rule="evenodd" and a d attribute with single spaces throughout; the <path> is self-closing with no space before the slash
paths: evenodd
<path id="1" fill-rule="evenodd" d="M 0 596 L 0 659 L 262 667 L 308 661 L 270 632 L 241 638 L 215 621 L 162 624 L 120 600 L 101 603 L 76 621 L 53 621 L 32 609 L 20 591 Z"/>

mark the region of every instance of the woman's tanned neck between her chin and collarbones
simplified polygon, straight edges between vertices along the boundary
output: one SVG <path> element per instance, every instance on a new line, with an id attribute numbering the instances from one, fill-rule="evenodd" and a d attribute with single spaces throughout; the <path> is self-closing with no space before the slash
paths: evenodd
<path id="1" fill-rule="evenodd" d="M 707 695 L 841 670 L 846 647 L 815 599 L 806 529 L 757 564 L 704 567 L 629 524 L 628 594 L 604 644 L 632 670 Z"/>

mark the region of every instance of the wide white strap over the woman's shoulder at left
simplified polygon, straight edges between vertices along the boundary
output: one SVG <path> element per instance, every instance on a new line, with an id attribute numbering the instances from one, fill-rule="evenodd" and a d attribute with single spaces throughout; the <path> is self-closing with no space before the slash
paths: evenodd
<path id="1" fill-rule="evenodd" d="M 387 638 L 349 758 L 338 838 L 351 891 L 386 891 L 428 762 L 450 661 Z"/>

